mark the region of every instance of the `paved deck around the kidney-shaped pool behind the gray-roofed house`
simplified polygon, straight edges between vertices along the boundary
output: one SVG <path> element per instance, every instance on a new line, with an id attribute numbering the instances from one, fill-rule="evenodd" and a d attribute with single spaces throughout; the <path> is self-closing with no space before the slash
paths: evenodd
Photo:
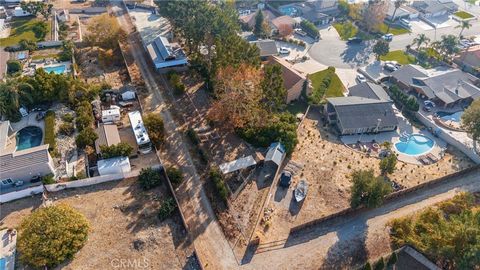
<path id="1" fill-rule="evenodd" d="M 398 120 L 398 128 L 395 131 L 390 131 L 390 132 L 381 132 L 378 134 L 357 134 L 357 135 L 347 135 L 347 136 L 342 136 L 340 139 L 344 144 L 351 145 L 351 144 L 356 144 L 358 141 L 363 142 L 363 143 L 370 143 L 373 140 L 375 140 L 377 143 L 381 144 L 383 142 L 390 142 L 392 143 L 392 150 L 395 151 L 395 153 L 398 154 L 398 160 L 406 162 L 406 163 L 411 163 L 411 164 L 417 164 L 417 165 L 423 165 L 417 158 L 418 156 L 422 156 L 425 154 L 432 154 L 436 158 L 441 159 L 444 156 L 444 151 L 447 148 L 447 143 L 443 141 L 440 138 L 435 137 L 432 133 L 430 133 L 428 130 L 420 130 L 414 126 L 412 126 L 408 120 L 403 117 L 403 115 L 400 112 L 395 113 L 397 120 Z M 400 141 L 401 134 L 421 134 L 424 135 L 430 139 L 432 139 L 435 142 L 435 145 L 430 151 L 427 151 L 425 153 L 422 153 L 421 155 L 417 156 L 411 156 L 407 155 L 401 152 L 398 152 L 396 147 L 394 146 L 395 143 Z"/>

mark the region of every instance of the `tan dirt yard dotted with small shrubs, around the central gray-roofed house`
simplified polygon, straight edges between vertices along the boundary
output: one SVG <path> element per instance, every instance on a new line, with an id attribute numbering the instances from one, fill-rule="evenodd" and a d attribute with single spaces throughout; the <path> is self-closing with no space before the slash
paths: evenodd
<path id="1" fill-rule="evenodd" d="M 299 144 L 291 161 L 303 165 L 303 169 L 294 175 L 289 190 L 277 188 L 270 203 L 272 226 L 263 235 L 267 241 L 284 239 L 293 226 L 349 207 L 351 183 L 348 176 L 353 170 L 374 169 L 376 174 L 380 173 L 379 159 L 344 146 L 319 119 L 320 114 L 311 111 L 299 130 Z M 436 164 L 418 166 L 398 162 L 397 170 L 390 178 L 412 187 L 471 165 L 473 163 L 466 156 L 449 148 Z M 292 194 L 300 179 L 307 179 L 309 188 L 306 199 L 297 204 L 292 200 Z"/>

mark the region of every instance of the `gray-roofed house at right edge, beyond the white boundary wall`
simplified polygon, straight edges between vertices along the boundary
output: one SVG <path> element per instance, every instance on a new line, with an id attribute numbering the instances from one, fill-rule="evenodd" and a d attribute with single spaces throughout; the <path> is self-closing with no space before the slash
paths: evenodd
<path id="1" fill-rule="evenodd" d="M 408 65 L 392 73 L 402 88 L 444 107 L 467 106 L 480 98 L 480 80 L 459 69 L 420 71 Z"/>

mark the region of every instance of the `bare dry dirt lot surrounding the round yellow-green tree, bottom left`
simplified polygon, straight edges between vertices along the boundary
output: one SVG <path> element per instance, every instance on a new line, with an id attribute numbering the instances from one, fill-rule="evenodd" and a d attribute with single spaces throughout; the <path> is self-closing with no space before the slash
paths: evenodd
<path id="1" fill-rule="evenodd" d="M 160 222 L 157 212 L 167 193 L 162 185 L 141 190 L 135 179 L 51 193 L 91 223 L 86 245 L 63 269 L 114 269 L 119 259 L 147 262 L 145 269 L 198 269 L 180 215 Z M 41 203 L 35 196 L 2 205 L 1 226 L 16 227 Z"/>

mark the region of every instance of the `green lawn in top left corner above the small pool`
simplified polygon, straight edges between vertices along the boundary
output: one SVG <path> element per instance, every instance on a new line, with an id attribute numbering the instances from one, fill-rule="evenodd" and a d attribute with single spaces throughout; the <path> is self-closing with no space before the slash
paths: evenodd
<path id="1" fill-rule="evenodd" d="M 32 31 L 32 27 L 35 25 L 36 22 L 39 22 L 39 21 L 40 21 L 39 19 L 36 19 L 33 17 L 14 19 L 11 23 L 12 30 L 10 32 L 10 36 L 8 38 L 0 39 L 0 46 L 6 47 L 6 46 L 16 45 L 22 39 L 39 41 L 35 37 L 35 34 Z M 48 21 L 47 25 L 48 25 L 47 37 L 48 37 L 50 35 L 51 22 Z"/>

